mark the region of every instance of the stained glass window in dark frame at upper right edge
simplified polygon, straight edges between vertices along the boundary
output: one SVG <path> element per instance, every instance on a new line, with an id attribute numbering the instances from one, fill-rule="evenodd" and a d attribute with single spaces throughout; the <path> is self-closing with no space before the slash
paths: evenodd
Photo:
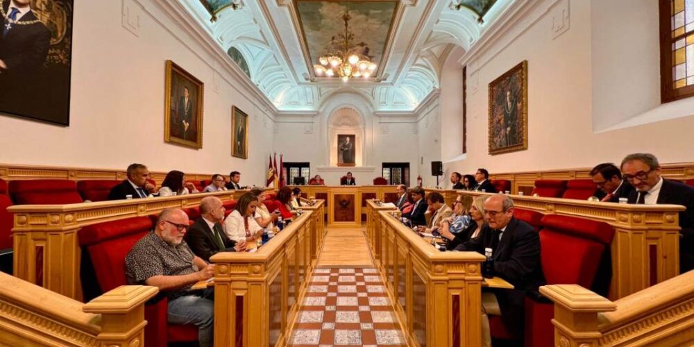
<path id="1" fill-rule="evenodd" d="M 661 1 L 661 21 L 663 101 L 694 95 L 694 0 Z"/>

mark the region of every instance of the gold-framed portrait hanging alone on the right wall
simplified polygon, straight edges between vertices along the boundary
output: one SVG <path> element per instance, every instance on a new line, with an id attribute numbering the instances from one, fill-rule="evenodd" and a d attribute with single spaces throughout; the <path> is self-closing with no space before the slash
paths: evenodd
<path id="1" fill-rule="evenodd" d="M 527 149 L 527 60 L 489 83 L 489 154 Z"/>

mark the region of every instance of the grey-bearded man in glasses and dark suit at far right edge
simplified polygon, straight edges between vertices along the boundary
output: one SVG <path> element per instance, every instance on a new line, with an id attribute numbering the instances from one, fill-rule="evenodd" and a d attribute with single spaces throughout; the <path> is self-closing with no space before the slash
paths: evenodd
<path id="1" fill-rule="evenodd" d="M 679 273 L 694 269 L 694 187 L 662 178 L 658 159 L 634 153 L 622 160 L 622 178 L 634 186 L 629 203 L 683 205 L 679 212 Z"/>

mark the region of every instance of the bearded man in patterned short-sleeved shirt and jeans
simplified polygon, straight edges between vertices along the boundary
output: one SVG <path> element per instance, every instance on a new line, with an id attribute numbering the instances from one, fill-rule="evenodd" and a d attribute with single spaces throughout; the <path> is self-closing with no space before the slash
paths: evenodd
<path id="1" fill-rule="evenodd" d="M 193 323 L 200 346 L 214 341 L 214 290 L 192 291 L 190 287 L 214 276 L 214 264 L 193 254 L 183 237 L 188 216 L 180 208 L 159 214 L 153 231 L 142 237 L 126 256 L 129 285 L 151 285 L 169 299 L 169 323 Z"/>

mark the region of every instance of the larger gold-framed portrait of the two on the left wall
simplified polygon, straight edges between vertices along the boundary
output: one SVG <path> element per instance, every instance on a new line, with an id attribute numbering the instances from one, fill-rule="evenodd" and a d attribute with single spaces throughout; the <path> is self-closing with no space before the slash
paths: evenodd
<path id="1" fill-rule="evenodd" d="M 201 149 L 203 147 L 203 83 L 167 60 L 164 141 Z"/>

